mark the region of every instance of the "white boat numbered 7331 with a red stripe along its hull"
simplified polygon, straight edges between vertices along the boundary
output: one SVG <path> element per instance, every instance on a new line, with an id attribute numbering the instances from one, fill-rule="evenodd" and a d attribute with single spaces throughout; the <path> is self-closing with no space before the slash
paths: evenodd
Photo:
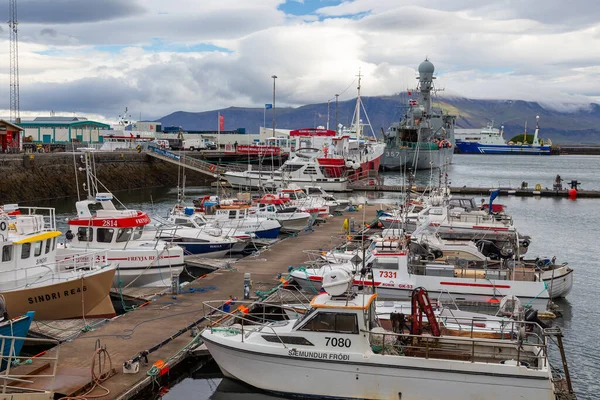
<path id="1" fill-rule="evenodd" d="M 568 294 L 572 287 L 573 270 L 566 265 L 553 270 L 541 270 L 527 264 L 502 263 L 488 265 L 454 265 L 436 262 L 411 262 L 404 238 L 382 238 L 371 246 L 363 264 L 353 262 L 326 264 L 322 267 L 300 268 L 291 276 L 304 290 L 320 290 L 323 277 L 329 270 L 356 272 L 364 267 L 372 279 L 355 282 L 377 288 L 386 299 L 408 300 L 412 290 L 425 288 L 441 301 L 467 301 L 498 304 L 505 296 L 516 296 L 528 307 L 545 311 L 550 299 Z M 556 286 L 555 286 L 556 285 Z M 564 287 L 563 287 L 564 285 Z M 550 287 L 555 287 L 552 291 Z"/>

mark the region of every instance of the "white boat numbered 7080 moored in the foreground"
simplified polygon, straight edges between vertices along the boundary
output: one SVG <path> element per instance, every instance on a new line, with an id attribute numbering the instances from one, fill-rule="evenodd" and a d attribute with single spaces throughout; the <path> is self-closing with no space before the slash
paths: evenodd
<path id="1" fill-rule="evenodd" d="M 328 275 L 328 293 L 299 319 L 211 324 L 202 340 L 226 377 L 282 395 L 554 399 L 538 325 L 522 322 L 522 335 L 512 339 L 445 336 L 433 326 L 429 334 L 418 321 L 412 334 L 394 333 L 379 325 L 375 295 L 347 290 L 352 280 L 342 271 Z"/>

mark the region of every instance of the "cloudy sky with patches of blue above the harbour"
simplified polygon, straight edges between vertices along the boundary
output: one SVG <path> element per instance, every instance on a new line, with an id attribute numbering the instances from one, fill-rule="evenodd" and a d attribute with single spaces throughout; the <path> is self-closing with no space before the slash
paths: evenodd
<path id="1" fill-rule="evenodd" d="M 278 107 L 346 100 L 359 69 L 364 95 L 394 94 L 426 56 L 443 96 L 573 109 L 600 100 L 599 17 L 595 0 L 18 0 L 21 113 L 263 107 L 273 74 Z M 8 115 L 6 24 L 0 42 Z"/>

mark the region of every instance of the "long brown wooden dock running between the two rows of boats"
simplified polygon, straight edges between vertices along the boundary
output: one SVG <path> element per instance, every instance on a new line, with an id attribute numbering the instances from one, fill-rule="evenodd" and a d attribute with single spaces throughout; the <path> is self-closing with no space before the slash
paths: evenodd
<path id="1" fill-rule="evenodd" d="M 59 365 L 54 390 L 62 396 L 86 394 L 93 387 L 91 377 L 92 359 L 96 346 L 106 346 L 112 362 L 114 375 L 102 382 L 109 390 L 102 399 L 129 399 L 147 389 L 157 378 L 153 364 L 163 360 L 174 368 L 189 355 L 189 348 L 195 346 L 189 329 L 202 326 L 204 322 L 204 301 L 227 300 L 230 296 L 243 299 L 244 274 L 250 273 L 255 290 L 267 291 L 277 286 L 280 276 L 288 274 L 289 266 L 300 265 L 308 258 L 305 250 L 329 250 L 344 239 L 344 218 L 371 222 L 376 216 L 375 206 L 365 206 L 362 211 L 346 212 L 342 216 L 330 218 L 326 223 L 315 226 L 312 231 L 301 232 L 265 247 L 253 255 L 237 261 L 233 268 L 218 269 L 183 287 L 178 295 L 157 295 L 143 307 L 128 312 L 98 325 L 92 331 L 65 342 L 59 349 Z M 258 260 L 258 261 L 257 261 Z M 278 276 L 279 275 L 279 276 Z M 138 294 L 139 295 L 139 294 Z M 171 339 L 171 340 L 169 340 Z M 161 347 L 147 355 L 148 363 L 137 373 L 124 373 L 123 364 L 144 351 L 163 343 Z M 56 351 L 55 349 L 49 352 Z M 97 358 L 97 357 L 96 357 Z M 48 389 L 51 382 L 35 378 L 33 371 L 40 365 L 20 365 L 11 372 L 31 373 L 31 384 L 22 384 L 34 389 Z M 105 367 L 105 371 L 109 366 Z M 105 393 L 96 387 L 90 397 Z"/>

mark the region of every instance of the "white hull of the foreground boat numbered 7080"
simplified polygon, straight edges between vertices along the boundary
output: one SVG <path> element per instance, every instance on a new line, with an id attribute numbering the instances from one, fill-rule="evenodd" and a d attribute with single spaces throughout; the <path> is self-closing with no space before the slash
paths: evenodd
<path id="1" fill-rule="evenodd" d="M 339 355 L 345 361 L 334 361 L 335 353 L 305 352 L 329 355 L 327 360 L 317 360 L 290 356 L 294 349 L 265 353 L 229 346 L 213 337 L 203 334 L 225 376 L 283 395 L 378 400 L 554 399 L 550 377 L 544 372 L 517 375 L 499 364 L 485 365 L 481 371 L 478 368 L 482 366 L 457 366 L 453 360 L 344 353 Z"/>

